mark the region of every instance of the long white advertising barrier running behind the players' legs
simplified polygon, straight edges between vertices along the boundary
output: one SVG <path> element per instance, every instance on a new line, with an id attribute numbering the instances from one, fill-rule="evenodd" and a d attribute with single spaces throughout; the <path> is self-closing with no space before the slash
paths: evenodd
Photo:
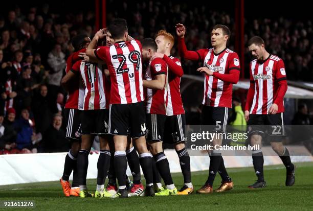
<path id="1" fill-rule="evenodd" d="M 287 146 L 293 162 L 312 162 L 313 157 L 303 146 Z M 281 164 L 281 160 L 271 147 L 263 147 L 272 155 L 264 156 L 264 165 Z M 303 155 L 303 152 L 307 153 Z M 180 163 L 175 150 L 164 151 L 170 165 L 171 172 L 181 172 Z M 299 155 L 298 152 L 301 152 Z M 63 174 L 64 158 L 66 153 L 41 153 L 41 154 L 14 154 L 0 155 L 0 185 L 43 182 L 59 180 Z M 99 154 L 89 156 L 87 178 L 97 178 L 97 160 Z M 252 167 L 251 156 L 224 156 L 227 168 Z M 204 171 L 209 169 L 209 156 L 190 156 L 191 171 Z M 127 175 L 131 175 L 129 168 Z M 72 175 L 70 177 L 72 179 Z"/>

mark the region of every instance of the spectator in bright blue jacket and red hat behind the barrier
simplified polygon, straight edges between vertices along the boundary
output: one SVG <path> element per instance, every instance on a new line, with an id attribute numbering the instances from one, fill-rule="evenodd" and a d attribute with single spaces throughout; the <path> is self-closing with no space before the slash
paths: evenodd
<path id="1" fill-rule="evenodd" d="M 21 110 L 20 119 L 15 122 L 16 148 L 22 153 L 37 153 L 37 149 L 32 144 L 36 134 L 33 131 L 33 122 L 29 118 L 28 109 Z"/>

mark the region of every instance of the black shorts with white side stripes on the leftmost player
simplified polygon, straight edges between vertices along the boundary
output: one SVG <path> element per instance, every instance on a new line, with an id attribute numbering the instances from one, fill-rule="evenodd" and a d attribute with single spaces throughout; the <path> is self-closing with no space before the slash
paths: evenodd
<path id="1" fill-rule="evenodd" d="M 73 142 L 81 142 L 79 133 L 81 126 L 81 110 L 74 108 L 65 108 L 66 138 Z"/>

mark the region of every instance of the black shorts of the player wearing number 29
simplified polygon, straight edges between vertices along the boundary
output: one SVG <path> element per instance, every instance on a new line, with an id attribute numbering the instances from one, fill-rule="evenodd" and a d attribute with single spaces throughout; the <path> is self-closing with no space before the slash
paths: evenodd
<path id="1" fill-rule="evenodd" d="M 108 133 L 130 135 L 138 138 L 146 135 L 146 113 L 144 102 L 132 104 L 110 104 Z"/>

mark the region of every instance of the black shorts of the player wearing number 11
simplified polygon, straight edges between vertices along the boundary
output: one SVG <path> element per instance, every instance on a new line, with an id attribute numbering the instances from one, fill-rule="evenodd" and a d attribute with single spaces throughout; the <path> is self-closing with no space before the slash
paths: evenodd
<path id="1" fill-rule="evenodd" d="M 108 109 L 83 110 L 81 115 L 81 134 L 107 134 Z"/>

